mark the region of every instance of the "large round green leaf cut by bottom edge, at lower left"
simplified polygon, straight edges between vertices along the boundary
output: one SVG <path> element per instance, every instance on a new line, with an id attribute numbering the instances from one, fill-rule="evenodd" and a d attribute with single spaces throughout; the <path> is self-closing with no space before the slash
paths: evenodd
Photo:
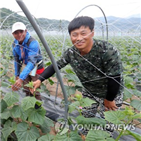
<path id="1" fill-rule="evenodd" d="M 19 123 L 15 134 L 19 141 L 36 141 L 40 137 L 39 131 L 36 127 L 29 127 L 25 122 Z"/>

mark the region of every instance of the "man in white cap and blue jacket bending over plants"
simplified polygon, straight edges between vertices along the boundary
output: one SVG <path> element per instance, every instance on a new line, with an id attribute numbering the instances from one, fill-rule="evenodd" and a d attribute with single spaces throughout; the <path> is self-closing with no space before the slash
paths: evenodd
<path id="1" fill-rule="evenodd" d="M 13 24 L 12 34 L 15 38 L 12 49 L 16 77 L 16 82 L 12 85 L 12 90 L 17 91 L 23 85 L 26 96 L 33 96 L 25 84 L 30 81 L 36 81 L 39 74 L 44 71 L 43 57 L 39 43 L 29 34 L 26 26 L 22 22 Z M 36 92 L 35 97 L 41 100 L 39 92 Z"/>

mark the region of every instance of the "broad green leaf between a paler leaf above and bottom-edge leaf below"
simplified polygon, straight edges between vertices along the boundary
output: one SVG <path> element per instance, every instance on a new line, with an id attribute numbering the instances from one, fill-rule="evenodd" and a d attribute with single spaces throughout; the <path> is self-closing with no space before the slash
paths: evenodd
<path id="1" fill-rule="evenodd" d="M 32 109 L 29 113 L 28 121 L 41 125 L 44 122 L 45 114 L 46 110 L 42 107 L 39 109 Z"/>

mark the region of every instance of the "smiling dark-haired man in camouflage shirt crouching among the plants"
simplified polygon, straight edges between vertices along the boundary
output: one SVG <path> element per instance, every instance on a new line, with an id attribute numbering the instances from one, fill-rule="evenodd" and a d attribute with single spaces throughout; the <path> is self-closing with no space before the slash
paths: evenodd
<path id="1" fill-rule="evenodd" d="M 97 102 L 83 108 L 82 114 L 94 117 L 99 106 L 102 116 L 105 110 L 118 109 L 123 97 L 122 63 L 118 50 L 107 41 L 93 39 L 94 20 L 90 17 L 73 19 L 68 31 L 74 46 L 57 61 L 58 68 L 70 64 L 84 87 L 83 96 Z M 54 73 L 53 65 L 47 67 L 34 82 L 34 88 Z"/>

